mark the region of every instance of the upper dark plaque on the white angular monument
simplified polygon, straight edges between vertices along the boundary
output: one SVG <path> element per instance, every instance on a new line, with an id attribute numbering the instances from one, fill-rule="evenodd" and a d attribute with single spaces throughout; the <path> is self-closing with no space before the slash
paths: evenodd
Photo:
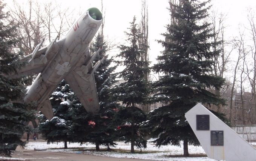
<path id="1" fill-rule="evenodd" d="M 208 114 L 196 115 L 196 130 L 210 130 L 210 116 Z"/>

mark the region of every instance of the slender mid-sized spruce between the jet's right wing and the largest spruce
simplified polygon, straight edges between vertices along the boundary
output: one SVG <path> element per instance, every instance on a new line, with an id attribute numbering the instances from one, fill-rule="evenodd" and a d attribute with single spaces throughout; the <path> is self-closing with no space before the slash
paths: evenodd
<path id="1" fill-rule="evenodd" d="M 144 75 L 149 69 L 145 68 L 148 62 L 141 61 L 139 58 L 143 54 L 143 49 L 139 48 L 138 26 L 135 23 L 136 18 L 133 18 L 130 23 L 130 31 L 125 32 L 129 46 L 121 45 L 120 54 L 123 60 L 117 61 L 126 68 L 120 72 L 120 77 L 125 80 L 115 86 L 114 95 L 118 101 L 121 101 L 125 108 L 120 108 L 115 117 L 114 123 L 118 125 L 118 133 L 121 138 L 127 143 L 131 143 L 131 152 L 134 152 L 134 146 L 146 148 L 147 141 L 144 140 L 140 132 L 140 123 L 146 120 L 144 112 L 137 107 L 146 101 L 146 96 L 149 93 Z"/>

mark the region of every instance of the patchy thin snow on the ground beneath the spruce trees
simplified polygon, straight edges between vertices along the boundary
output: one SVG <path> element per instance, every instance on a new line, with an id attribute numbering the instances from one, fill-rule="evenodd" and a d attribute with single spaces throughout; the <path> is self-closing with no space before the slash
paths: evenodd
<path id="1" fill-rule="evenodd" d="M 80 146 L 80 143 L 70 143 L 67 144 L 68 148 L 72 149 L 58 149 L 63 148 L 64 143 L 51 143 L 47 144 L 45 141 L 30 141 L 25 149 L 34 150 L 35 149 L 47 149 L 52 152 L 65 152 L 65 153 L 83 153 L 87 155 L 99 155 L 99 156 L 112 156 L 116 158 L 137 158 L 137 159 L 151 159 L 151 160 L 161 160 L 161 161 L 215 161 L 213 159 L 209 159 L 207 157 L 170 157 L 170 155 L 182 155 L 183 147 L 178 146 L 162 146 L 160 148 L 155 147 L 153 143 L 148 142 L 147 149 L 140 149 L 136 153 L 129 153 L 130 144 L 125 144 L 124 142 L 117 142 L 116 147 L 112 147 L 111 149 L 115 149 L 115 151 L 95 151 L 91 149 L 95 149 L 94 144 L 85 143 Z M 50 149 L 57 148 L 57 149 Z M 100 147 L 106 148 L 106 147 Z M 127 151 L 126 151 L 127 150 Z M 189 145 L 189 153 L 190 154 L 205 154 L 204 150 L 201 146 L 192 146 Z"/>

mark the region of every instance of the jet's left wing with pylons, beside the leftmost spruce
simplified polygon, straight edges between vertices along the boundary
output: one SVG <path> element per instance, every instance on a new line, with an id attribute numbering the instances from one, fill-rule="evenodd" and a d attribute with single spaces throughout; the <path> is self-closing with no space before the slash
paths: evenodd
<path id="1" fill-rule="evenodd" d="M 17 72 L 10 75 L 12 78 L 38 74 L 49 64 L 60 50 L 65 39 L 52 41 L 48 46 L 40 48 L 43 41 L 35 47 L 34 51 L 25 56 L 21 61 L 27 62 L 25 66 L 17 70 Z"/>

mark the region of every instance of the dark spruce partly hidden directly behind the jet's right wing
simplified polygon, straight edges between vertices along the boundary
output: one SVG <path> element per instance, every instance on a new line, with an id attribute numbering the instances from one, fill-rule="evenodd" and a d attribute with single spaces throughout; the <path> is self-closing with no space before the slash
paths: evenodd
<path id="1" fill-rule="evenodd" d="M 111 88 L 116 82 L 116 74 L 113 73 L 116 66 L 110 66 L 113 59 L 109 59 L 108 55 L 106 55 L 107 42 L 104 41 L 104 37 L 100 33 L 92 43 L 90 50 L 94 52 L 99 48 L 101 48 L 100 56 L 95 59 L 95 62 L 105 57 L 104 63 L 94 73 L 100 102 L 100 113 L 92 119 L 95 125 L 87 136 L 88 140 L 96 145 L 96 150 L 100 150 L 100 145 L 107 146 L 108 148 L 115 146 L 115 129 L 110 125 L 116 113 L 114 109 L 119 107 L 119 104 L 110 97 Z"/>

